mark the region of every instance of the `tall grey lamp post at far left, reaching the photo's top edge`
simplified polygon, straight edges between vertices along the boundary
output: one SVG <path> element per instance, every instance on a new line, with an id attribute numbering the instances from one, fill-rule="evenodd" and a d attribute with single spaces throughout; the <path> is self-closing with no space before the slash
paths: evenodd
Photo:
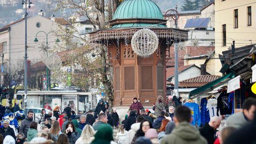
<path id="1" fill-rule="evenodd" d="M 21 4 L 23 5 L 23 4 L 28 4 L 29 6 L 29 8 L 30 8 L 30 4 L 32 3 L 32 2 L 30 2 L 30 0 L 22 0 L 22 2 L 21 2 Z M 27 31 L 27 13 L 26 13 L 26 7 L 25 7 L 25 56 L 24 56 L 24 91 L 25 91 L 25 98 L 26 98 L 26 94 L 27 94 L 27 33 L 26 33 L 26 31 Z"/>

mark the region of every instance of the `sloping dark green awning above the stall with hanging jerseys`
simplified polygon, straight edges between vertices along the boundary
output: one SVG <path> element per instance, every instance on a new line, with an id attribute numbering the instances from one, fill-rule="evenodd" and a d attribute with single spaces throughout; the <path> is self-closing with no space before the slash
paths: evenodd
<path id="1" fill-rule="evenodd" d="M 194 89 L 193 91 L 191 91 L 189 93 L 189 98 L 190 99 L 194 99 L 194 98 L 197 98 L 198 96 L 200 96 L 200 94 L 204 91 L 207 91 L 209 90 L 210 88 L 212 88 L 214 85 L 217 85 L 218 83 L 222 82 L 223 80 L 227 79 L 227 78 L 231 78 L 233 77 L 234 73 L 229 73 L 229 74 L 226 74 L 224 75 L 223 77 L 219 78 L 219 79 L 216 79 L 212 82 L 209 82 L 207 83 L 206 85 L 203 85 L 197 89 Z"/>

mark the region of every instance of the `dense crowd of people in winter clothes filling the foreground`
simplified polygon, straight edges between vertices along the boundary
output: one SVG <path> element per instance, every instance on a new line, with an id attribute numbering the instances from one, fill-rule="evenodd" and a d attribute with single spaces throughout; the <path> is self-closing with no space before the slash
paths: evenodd
<path id="1" fill-rule="evenodd" d="M 221 118 L 213 116 L 200 127 L 191 124 L 191 110 L 183 105 L 182 98 L 168 96 L 165 101 L 158 96 L 151 112 L 144 109 L 138 98 L 119 122 L 115 108 L 100 100 L 95 111 L 81 115 L 59 107 L 46 114 L 42 109 L 39 123 L 33 121 L 33 111 L 28 111 L 18 131 L 4 119 L 0 128 L 0 144 L 253 144 L 256 142 L 256 98 L 247 98 L 243 111 L 226 121 L 226 127 L 218 131 Z M 8 107 L 8 110 L 11 108 Z M 20 111 L 20 109 L 18 110 Z M 5 110 L 6 112 L 6 110 Z M 9 112 L 9 111 L 7 111 Z M 2 114 L 2 113 L 1 113 Z M 4 116 L 3 116 L 4 118 Z M 9 117 L 10 118 L 10 117 Z M 38 126 L 40 128 L 38 128 Z M 117 133 L 113 137 L 113 129 Z M 115 138 L 115 140 L 114 140 Z"/>

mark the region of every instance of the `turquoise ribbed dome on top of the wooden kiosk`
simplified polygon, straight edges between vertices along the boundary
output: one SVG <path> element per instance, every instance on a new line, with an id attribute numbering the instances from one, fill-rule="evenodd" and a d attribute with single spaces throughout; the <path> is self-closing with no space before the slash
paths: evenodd
<path id="1" fill-rule="evenodd" d="M 163 19 L 159 7 L 151 0 L 125 0 L 115 11 L 115 19 Z"/>

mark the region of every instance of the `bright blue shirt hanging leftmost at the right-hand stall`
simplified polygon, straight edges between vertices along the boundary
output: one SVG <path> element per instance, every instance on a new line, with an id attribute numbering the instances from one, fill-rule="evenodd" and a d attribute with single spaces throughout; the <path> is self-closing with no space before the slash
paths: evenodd
<path id="1" fill-rule="evenodd" d="M 193 118 L 191 124 L 200 126 L 201 118 L 199 105 L 195 102 L 187 102 L 184 104 L 184 106 L 187 106 L 191 110 L 191 117 Z"/>

